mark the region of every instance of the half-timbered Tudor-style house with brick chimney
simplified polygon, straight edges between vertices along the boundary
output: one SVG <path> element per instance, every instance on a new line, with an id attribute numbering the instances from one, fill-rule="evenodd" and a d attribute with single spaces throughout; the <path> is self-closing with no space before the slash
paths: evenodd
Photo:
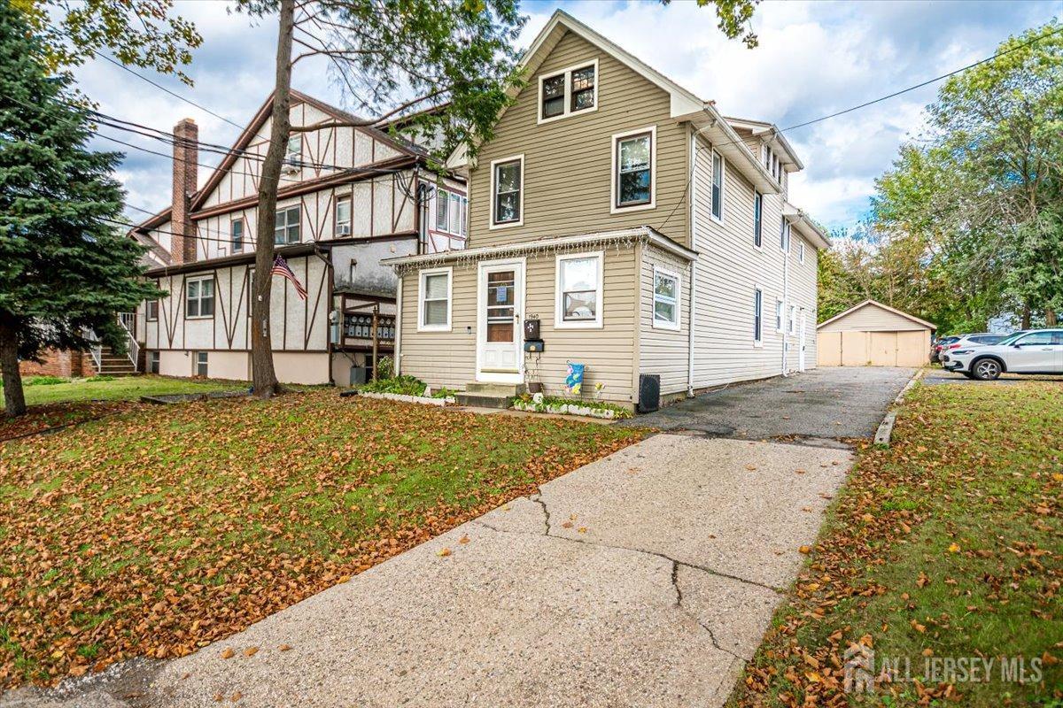
<path id="1" fill-rule="evenodd" d="M 257 190 L 271 108 L 272 97 L 231 149 L 201 142 L 189 119 L 174 128 L 172 204 L 132 231 L 151 244 L 157 263 L 147 277 L 167 292 L 137 316 L 148 372 L 251 377 Z M 274 277 L 274 366 L 282 382 L 349 385 L 370 375 L 374 351 L 393 350 L 396 277 L 381 260 L 460 247 L 465 180 L 428 172 L 422 149 L 382 129 L 335 125 L 352 117 L 298 91 L 290 116 L 316 129 L 288 141 L 272 234 L 306 292 Z M 200 187 L 203 151 L 224 157 Z"/>

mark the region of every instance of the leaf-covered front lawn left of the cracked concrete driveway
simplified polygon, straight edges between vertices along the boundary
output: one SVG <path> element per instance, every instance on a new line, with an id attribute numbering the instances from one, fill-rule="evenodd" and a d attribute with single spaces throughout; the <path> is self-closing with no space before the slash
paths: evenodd
<path id="1" fill-rule="evenodd" d="M 311 391 L 0 444 L 0 685 L 188 654 L 643 435 Z"/>

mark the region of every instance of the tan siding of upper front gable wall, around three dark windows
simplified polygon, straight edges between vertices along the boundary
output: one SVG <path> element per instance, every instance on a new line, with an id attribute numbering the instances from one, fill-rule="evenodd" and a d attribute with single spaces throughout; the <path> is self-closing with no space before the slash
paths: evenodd
<path id="1" fill-rule="evenodd" d="M 539 76 L 598 59 L 597 110 L 538 123 Z M 660 227 L 685 198 L 688 139 L 667 92 L 583 38 L 567 34 L 495 126 L 471 170 L 470 247 L 629 226 Z M 610 212 L 612 136 L 656 125 L 656 208 Z M 490 229 L 491 161 L 524 155 L 523 225 Z M 662 231 L 685 243 L 680 207 Z"/>

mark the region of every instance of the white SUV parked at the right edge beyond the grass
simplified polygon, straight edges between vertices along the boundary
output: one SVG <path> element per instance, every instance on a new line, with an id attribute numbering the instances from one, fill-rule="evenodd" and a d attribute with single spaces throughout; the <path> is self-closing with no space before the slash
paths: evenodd
<path id="1" fill-rule="evenodd" d="M 1063 374 L 1063 329 L 1015 332 L 996 344 L 963 346 L 942 352 L 949 372 L 992 381 L 1010 374 Z"/>

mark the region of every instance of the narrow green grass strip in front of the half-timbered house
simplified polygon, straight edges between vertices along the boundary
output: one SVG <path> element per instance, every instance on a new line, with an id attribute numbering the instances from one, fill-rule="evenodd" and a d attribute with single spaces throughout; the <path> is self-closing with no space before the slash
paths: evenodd
<path id="1" fill-rule="evenodd" d="M 33 385 L 34 379 L 37 378 L 43 377 L 28 377 L 27 383 L 29 385 L 24 385 L 22 388 L 27 405 L 86 400 L 137 400 L 140 396 L 233 391 L 248 386 L 247 383 L 242 382 L 168 379 L 150 374 L 115 377 L 111 380 L 69 379 L 64 383 Z M 47 377 L 44 378 L 48 380 Z M 2 392 L 3 386 L 0 386 L 0 393 Z"/>

